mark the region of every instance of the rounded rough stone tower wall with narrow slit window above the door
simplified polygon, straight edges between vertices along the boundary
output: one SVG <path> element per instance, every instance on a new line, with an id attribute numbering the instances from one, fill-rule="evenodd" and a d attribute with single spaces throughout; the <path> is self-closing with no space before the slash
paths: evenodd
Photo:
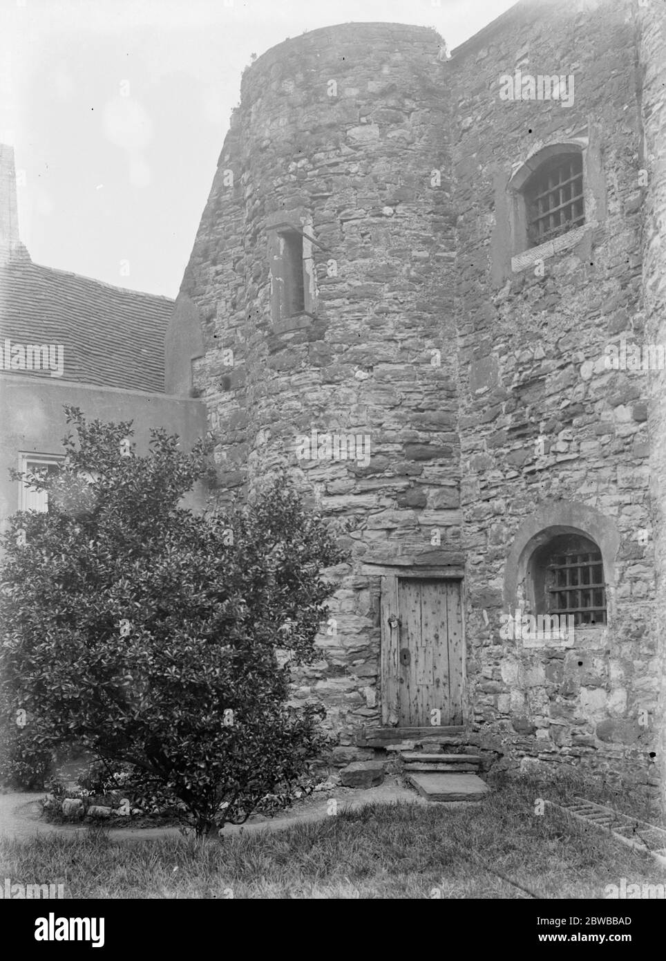
<path id="1" fill-rule="evenodd" d="M 379 569 L 364 565 L 462 560 L 443 71 L 434 31 L 394 24 L 319 30 L 260 57 L 182 285 L 201 316 L 194 387 L 221 485 L 287 460 L 325 514 L 351 519 L 335 627 L 297 678 L 349 759 L 364 756 L 345 749 L 354 730 L 379 722 Z M 285 222 L 312 256 L 313 315 L 292 329 L 271 314 L 271 232 Z M 313 430 L 368 437 L 369 463 L 297 460 Z"/>

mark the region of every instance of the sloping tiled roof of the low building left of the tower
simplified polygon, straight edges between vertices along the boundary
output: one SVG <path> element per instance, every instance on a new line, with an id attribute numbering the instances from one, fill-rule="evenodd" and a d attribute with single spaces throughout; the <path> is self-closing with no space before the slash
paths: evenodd
<path id="1" fill-rule="evenodd" d="M 6 337 L 12 344 L 61 344 L 62 380 L 163 391 L 173 308 L 166 297 L 42 267 L 27 255 L 0 264 L 0 347 Z"/>

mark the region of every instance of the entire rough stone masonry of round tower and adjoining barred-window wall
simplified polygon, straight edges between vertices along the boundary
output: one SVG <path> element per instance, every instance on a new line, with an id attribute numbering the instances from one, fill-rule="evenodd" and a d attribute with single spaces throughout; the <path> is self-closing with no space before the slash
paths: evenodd
<path id="1" fill-rule="evenodd" d="M 295 677 L 338 764 L 370 759 L 363 731 L 386 724 L 382 577 L 437 570 L 464 584 L 462 744 L 664 784 L 664 373 L 605 351 L 666 343 L 665 22 L 657 0 L 519 3 L 450 58 L 433 30 L 345 24 L 243 76 L 167 390 L 205 403 L 221 491 L 287 462 L 350 521 L 321 658 Z M 502 99 L 516 69 L 573 76 L 575 97 Z M 523 174 L 562 145 L 583 156 L 585 223 L 526 252 Z M 305 277 L 286 320 L 285 231 Z M 313 431 L 368 456 L 303 457 Z M 502 639 L 561 532 L 602 553 L 607 626 L 565 650 Z"/>

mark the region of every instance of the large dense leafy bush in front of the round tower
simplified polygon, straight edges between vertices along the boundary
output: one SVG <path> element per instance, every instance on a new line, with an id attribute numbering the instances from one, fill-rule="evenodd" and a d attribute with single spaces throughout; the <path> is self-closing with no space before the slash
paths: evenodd
<path id="1" fill-rule="evenodd" d="M 4 698 L 36 750 L 131 765 L 132 786 L 181 802 L 199 834 L 242 823 L 323 750 L 318 710 L 289 703 L 290 661 L 316 656 L 321 569 L 343 554 L 286 475 L 197 514 L 179 504 L 210 471 L 207 444 L 186 454 L 152 431 L 136 456 L 131 423 L 65 409 L 64 462 L 29 478 L 49 510 L 4 535 Z"/>

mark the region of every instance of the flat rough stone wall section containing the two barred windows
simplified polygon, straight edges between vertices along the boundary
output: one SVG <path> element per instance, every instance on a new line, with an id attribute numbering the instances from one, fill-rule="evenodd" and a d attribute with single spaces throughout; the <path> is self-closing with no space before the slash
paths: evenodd
<path id="1" fill-rule="evenodd" d="M 607 370 L 604 360 L 608 343 L 643 332 L 628 13 L 615 0 L 521 5 L 448 64 L 458 101 L 467 696 L 477 732 L 513 757 L 654 783 L 647 378 Z M 500 99 L 500 78 L 517 65 L 534 76 L 573 74 L 573 105 Z M 571 249 L 513 272 L 511 175 L 535 150 L 577 137 L 587 138 L 586 208 L 597 225 Z M 500 615 L 526 609 L 511 573 L 516 545 L 529 550 L 537 530 L 559 526 L 602 547 L 609 625 L 577 629 L 568 650 L 503 640 Z"/>

